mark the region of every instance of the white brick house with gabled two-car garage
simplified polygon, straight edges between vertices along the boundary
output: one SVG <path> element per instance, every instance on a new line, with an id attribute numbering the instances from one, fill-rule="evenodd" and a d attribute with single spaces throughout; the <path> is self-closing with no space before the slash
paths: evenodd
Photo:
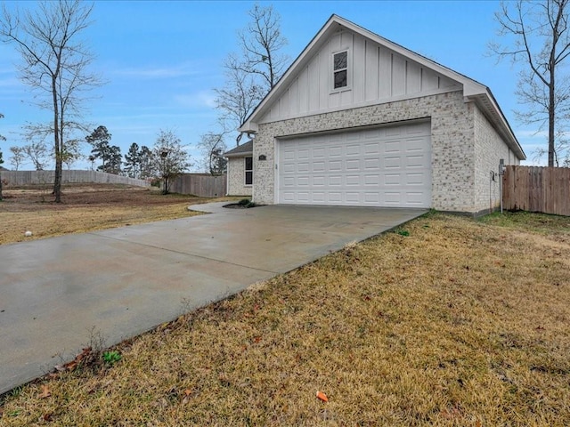
<path id="1" fill-rule="evenodd" d="M 258 204 L 479 214 L 500 160 L 525 159 L 489 88 L 337 15 L 240 132 L 253 147 L 226 153 L 228 175 Z"/>

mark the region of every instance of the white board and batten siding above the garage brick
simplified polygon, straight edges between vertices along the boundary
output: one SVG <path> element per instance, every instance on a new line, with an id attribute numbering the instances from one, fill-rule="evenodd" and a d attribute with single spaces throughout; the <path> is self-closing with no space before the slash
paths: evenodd
<path id="1" fill-rule="evenodd" d="M 348 51 L 348 85 L 333 89 L 332 55 Z M 452 92 L 460 85 L 350 30 L 339 31 L 300 69 L 259 121 Z"/>

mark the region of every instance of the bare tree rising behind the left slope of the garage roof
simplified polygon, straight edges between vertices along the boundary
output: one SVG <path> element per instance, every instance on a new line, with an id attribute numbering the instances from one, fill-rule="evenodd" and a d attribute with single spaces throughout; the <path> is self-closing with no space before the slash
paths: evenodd
<path id="1" fill-rule="evenodd" d="M 255 4 L 250 21 L 238 31 L 239 53 L 224 60 L 225 85 L 216 89 L 216 106 L 222 111 L 222 133 L 237 129 L 277 84 L 289 57 L 281 53 L 287 39 L 281 35 L 281 16 L 273 6 Z M 236 139 L 240 144 L 240 135 Z"/>

